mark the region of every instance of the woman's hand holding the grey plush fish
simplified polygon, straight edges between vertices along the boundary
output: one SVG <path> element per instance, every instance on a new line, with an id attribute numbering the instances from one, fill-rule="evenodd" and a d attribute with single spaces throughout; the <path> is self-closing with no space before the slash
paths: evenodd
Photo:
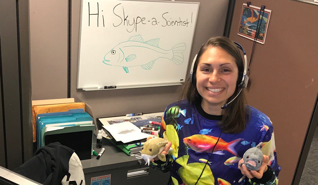
<path id="1" fill-rule="evenodd" d="M 239 164 L 241 164 L 243 162 L 244 162 L 243 159 L 241 159 L 239 161 Z M 247 178 L 249 178 L 249 179 L 252 179 L 254 177 L 260 179 L 263 177 L 263 173 L 267 171 L 268 162 L 269 162 L 269 157 L 266 155 L 263 155 L 263 164 L 258 171 L 247 169 L 245 164 L 243 164 L 242 167 L 239 166 L 239 169 L 241 170 L 242 174 L 246 175 Z"/>

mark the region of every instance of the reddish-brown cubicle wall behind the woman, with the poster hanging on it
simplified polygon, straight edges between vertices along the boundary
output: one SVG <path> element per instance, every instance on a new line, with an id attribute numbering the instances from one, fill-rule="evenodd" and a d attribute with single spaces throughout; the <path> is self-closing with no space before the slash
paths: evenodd
<path id="1" fill-rule="evenodd" d="M 230 38 L 245 48 L 253 41 L 237 35 L 243 3 L 237 0 Z M 247 100 L 273 122 L 281 185 L 290 185 L 318 92 L 317 6 L 290 0 L 255 0 L 272 10 L 265 45 L 257 44 Z"/>

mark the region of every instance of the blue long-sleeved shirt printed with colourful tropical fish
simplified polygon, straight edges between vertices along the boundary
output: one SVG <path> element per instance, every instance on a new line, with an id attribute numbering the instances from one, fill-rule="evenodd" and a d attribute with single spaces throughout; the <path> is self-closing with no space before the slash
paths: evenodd
<path id="1" fill-rule="evenodd" d="M 164 172 L 170 171 L 169 185 L 194 185 L 206 162 L 197 185 L 278 184 L 277 176 L 281 168 L 277 163 L 272 122 L 251 106 L 250 111 L 250 120 L 243 132 L 221 134 L 218 122 L 222 116 L 209 115 L 201 105 L 192 105 L 187 100 L 168 105 L 158 136 L 163 137 L 165 132 L 173 151 L 166 155 L 166 162 L 155 161 L 150 166 Z M 238 169 L 238 162 L 246 150 L 260 142 L 263 142 L 263 154 L 269 156 L 268 170 L 262 179 L 244 178 Z"/>

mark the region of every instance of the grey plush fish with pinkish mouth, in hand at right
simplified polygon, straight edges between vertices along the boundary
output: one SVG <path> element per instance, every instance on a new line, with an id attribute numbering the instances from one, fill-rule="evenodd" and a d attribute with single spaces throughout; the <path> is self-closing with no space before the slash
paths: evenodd
<path id="1" fill-rule="evenodd" d="M 259 170 L 259 168 L 263 164 L 263 152 L 260 150 L 262 146 L 262 142 L 260 142 L 256 147 L 250 148 L 246 150 L 243 155 L 244 164 L 249 170 Z M 242 166 L 243 163 L 240 164 Z"/>

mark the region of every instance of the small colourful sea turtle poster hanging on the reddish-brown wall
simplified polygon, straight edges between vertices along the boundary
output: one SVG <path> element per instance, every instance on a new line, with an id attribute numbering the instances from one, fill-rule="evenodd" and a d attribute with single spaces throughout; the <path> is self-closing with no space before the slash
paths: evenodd
<path id="1" fill-rule="evenodd" d="M 254 41 L 256 31 L 259 29 L 256 41 L 264 44 L 270 15 L 271 10 L 265 9 L 263 13 L 259 7 L 243 4 L 238 35 Z"/>

